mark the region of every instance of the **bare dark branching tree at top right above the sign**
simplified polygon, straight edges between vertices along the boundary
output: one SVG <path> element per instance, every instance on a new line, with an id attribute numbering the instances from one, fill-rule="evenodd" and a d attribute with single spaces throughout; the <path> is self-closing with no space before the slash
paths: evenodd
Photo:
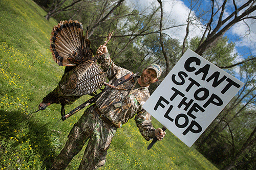
<path id="1" fill-rule="evenodd" d="M 205 22 L 205 31 L 195 51 L 197 54 L 202 55 L 211 48 L 236 23 L 256 19 L 256 16 L 252 15 L 252 12 L 256 10 L 255 0 L 249 0 L 239 7 L 236 1 L 232 1 L 232 7 L 228 7 L 227 2 L 225 0 L 222 4 L 218 4 L 219 1 L 211 0 L 211 15 Z M 227 8 L 233 9 L 233 11 L 226 16 L 224 13 Z"/>

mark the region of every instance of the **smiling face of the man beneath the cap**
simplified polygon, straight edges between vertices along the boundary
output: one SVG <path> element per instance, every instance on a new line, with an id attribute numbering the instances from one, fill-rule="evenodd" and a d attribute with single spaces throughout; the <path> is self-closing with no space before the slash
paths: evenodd
<path id="1" fill-rule="evenodd" d="M 143 85 L 148 86 L 158 81 L 157 73 L 154 69 L 144 69 L 141 74 L 141 82 Z"/>

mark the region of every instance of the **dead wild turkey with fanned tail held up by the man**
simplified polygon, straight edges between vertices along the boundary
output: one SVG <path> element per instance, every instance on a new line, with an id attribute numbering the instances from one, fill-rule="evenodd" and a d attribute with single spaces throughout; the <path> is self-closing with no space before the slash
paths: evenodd
<path id="1" fill-rule="evenodd" d="M 110 40 L 107 37 L 104 45 Z M 57 87 L 39 104 L 39 110 L 56 103 L 61 104 L 61 115 L 64 106 L 72 104 L 82 95 L 94 93 L 106 80 L 106 74 L 97 64 L 98 55 L 93 57 L 90 40 L 83 36 L 82 24 L 78 21 L 60 21 L 53 27 L 50 39 L 50 50 L 54 61 L 66 66 Z"/>

